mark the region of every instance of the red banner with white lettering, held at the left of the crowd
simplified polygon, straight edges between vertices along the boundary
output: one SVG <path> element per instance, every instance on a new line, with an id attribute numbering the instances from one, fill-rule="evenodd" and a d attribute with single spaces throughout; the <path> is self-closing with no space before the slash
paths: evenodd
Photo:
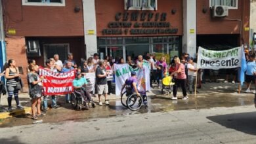
<path id="1" fill-rule="evenodd" d="M 39 75 L 44 77 L 42 81 L 44 95 L 70 94 L 74 90 L 75 70 L 66 73 L 55 73 L 49 69 L 39 67 Z"/>

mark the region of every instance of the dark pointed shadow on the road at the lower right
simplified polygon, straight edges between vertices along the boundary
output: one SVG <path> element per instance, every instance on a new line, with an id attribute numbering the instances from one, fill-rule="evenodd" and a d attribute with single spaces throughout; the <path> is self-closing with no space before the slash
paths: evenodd
<path id="1" fill-rule="evenodd" d="M 245 134 L 256 135 L 256 111 L 249 113 L 218 115 L 207 118 L 226 128 L 244 132 Z"/>

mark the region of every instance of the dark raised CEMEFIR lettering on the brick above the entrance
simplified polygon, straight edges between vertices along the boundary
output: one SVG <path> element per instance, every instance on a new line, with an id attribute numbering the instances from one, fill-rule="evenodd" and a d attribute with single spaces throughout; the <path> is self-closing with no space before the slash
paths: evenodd
<path id="1" fill-rule="evenodd" d="M 117 12 L 115 22 L 109 22 L 108 28 L 102 30 L 103 35 L 157 35 L 174 34 L 177 28 L 165 22 L 167 13 L 153 12 Z"/>

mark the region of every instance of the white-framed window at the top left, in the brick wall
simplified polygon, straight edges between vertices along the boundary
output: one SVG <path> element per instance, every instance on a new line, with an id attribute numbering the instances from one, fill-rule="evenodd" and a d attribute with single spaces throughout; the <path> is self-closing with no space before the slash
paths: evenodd
<path id="1" fill-rule="evenodd" d="M 65 0 L 22 0 L 22 5 L 65 6 Z"/>

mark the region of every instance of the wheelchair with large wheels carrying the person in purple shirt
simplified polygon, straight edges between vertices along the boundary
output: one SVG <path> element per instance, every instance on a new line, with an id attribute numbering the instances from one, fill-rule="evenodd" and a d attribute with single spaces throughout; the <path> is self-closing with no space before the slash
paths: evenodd
<path id="1" fill-rule="evenodd" d="M 133 94 L 132 88 L 128 86 L 125 87 L 125 92 L 121 94 L 121 103 L 131 111 L 137 111 L 142 106 L 145 109 L 148 107 L 146 94 L 141 94 L 141 96 Z"/>

